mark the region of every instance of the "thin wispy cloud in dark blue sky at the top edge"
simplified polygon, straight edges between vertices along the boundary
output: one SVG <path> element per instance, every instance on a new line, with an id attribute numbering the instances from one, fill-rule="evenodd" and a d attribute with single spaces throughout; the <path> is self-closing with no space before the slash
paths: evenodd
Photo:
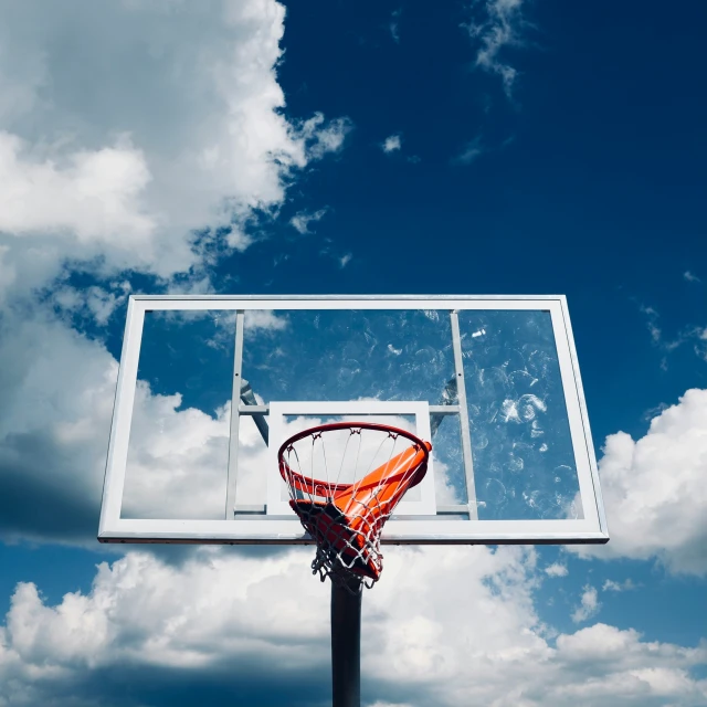
<path id="1" fill-rule="evenodd" d="M 506 95 L 510 97 L 518 72 L 500 59 L 502 50 L 520 44 L 520 29 L 525 25 L 524 0 L 477 0 L 472 7 L 483 7 L 483 18 L 465 24 L 469 35 L 481 44 L 476 65 L 500 76 Z"/>

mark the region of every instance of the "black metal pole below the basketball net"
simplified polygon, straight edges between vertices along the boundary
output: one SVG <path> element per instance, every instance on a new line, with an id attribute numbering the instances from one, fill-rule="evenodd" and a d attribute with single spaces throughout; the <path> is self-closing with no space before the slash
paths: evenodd
<path id="1" fill-rule="evenodd" d="M 361 705 L 362 594 L 356 580 L 348 585 L 331 582 L 333 707 Z"/>

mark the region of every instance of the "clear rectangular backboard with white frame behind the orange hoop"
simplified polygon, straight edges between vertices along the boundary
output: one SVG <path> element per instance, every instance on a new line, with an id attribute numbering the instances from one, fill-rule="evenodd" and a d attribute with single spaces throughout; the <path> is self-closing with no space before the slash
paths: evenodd
<path id="1" fill-rule="evenodd" d="M 562 296 L 131 296 L 103 542 L 309 544 L 277 450 L 336 421 L 432 443 L 383 544 L 606 542 Z"/>

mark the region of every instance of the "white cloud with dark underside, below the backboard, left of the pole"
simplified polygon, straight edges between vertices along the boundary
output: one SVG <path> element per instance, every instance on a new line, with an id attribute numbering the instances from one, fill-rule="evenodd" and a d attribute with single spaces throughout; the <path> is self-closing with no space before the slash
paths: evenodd
<path id="1" fill-rule="evenodd" d="M 302 552 L 247 558 L 204 550 L 199 561 L 177 569 L 131 553 L 99 566 L 88 594 L 66 594 L 57 606 L 46 606 L 33 584 L 19 584 L 0 629 L 0 704 L 38 704 L 44 695 L 55 698 L 53 690 L 68 693 L 62 704 L 84 704 L 101 675 L 108 685 L 97 699 L 94 694 L 96 704 L 138 704 L 133 690 L 139 692 L 140 680 L 126 680 L 130 690 L 120 683 L 145 671 L 152 688 L 172 697 L 180 671 L 196 682 L 203 672 L 202 680 L 224 687 L 247 685 L 253 673 L 275 690 L 263 666 L 281 677 L 324 672 L 327 592 L 306 581 L 303 560 Z M 298 587 L 296 597 L 287 598 L 287 584 Z M 325 690 L 307 697 L 316 704 Z"/>

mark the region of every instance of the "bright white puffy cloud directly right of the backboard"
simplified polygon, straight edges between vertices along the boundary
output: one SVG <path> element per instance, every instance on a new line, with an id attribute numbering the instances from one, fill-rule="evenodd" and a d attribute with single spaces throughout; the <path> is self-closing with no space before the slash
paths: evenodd
<path id="1" fill-rule="evenodd" d="M 568 551 L 655 558 L 669 572 L 707 574 L 707 390 L 688 390 L 637 441 L 608 436 L 599 473 L 611 540 Z"/>

